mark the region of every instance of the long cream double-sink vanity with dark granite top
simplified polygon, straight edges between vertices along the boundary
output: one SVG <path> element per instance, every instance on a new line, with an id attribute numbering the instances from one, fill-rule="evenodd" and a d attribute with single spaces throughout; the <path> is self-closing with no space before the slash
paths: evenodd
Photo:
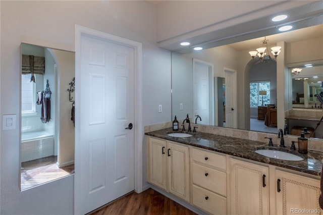
<path id="1" fill-rule="evenodd" d="M 208 214 L 321 213 L 322 153 L 203 132 L 171 137 L 146 132 L 147 181 Z M 257 149 L 284 150 L 302 160 L 270 158 Z"/>

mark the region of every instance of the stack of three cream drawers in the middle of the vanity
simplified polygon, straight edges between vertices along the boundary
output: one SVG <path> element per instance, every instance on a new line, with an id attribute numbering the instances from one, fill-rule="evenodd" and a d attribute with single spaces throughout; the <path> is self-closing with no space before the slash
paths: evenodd
<path id="1" fill-rule="evenodd" d="M 227 214 L 226 156 L 191 148 L 191 203 L 210 214 Z"/>

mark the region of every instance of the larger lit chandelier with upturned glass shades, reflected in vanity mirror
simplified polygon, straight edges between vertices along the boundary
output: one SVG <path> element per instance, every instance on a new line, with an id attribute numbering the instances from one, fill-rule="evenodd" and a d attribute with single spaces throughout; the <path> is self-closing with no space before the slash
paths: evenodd
<path id="1" fill-rule="evenodd" d="M 249 54 L 251 56 L 252 59 L 255 60 L 255 57 L 258 56 L 259 59 L 257 59 L 256 61 L 260 61 L 261 63 L 267 63 L 270 61 L 276 61 L 277 56 L 279 55 L 279 53 L 281 52 L 281 46 L 275 46 L 272 47 L 272 53 L 274 55 L 274 58 L 270 56 L 269 53 L 269 49 L 267 47 L 267 43 L 268 43 L 268 39 L 266 39 L 266 37 L 264 37 L 264 40 L 261 40 L 262 42 L 262 47 L 257 48 L 256 51 L 249 51 Z M 267 51 L 267 52 L 266 52 Z"/>

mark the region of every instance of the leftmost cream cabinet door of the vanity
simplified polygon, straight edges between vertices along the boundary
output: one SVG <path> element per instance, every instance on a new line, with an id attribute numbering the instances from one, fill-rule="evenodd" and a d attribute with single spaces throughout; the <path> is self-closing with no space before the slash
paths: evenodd
<path id="1" fill-rule="evenodd" d="M 147 177 L 151 184 L 167 190 L 167 142 L 147 139 Z"/>

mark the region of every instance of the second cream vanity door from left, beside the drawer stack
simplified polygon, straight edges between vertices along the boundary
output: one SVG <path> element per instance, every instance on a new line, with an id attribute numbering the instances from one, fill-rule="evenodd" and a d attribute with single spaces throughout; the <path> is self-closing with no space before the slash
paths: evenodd
<path id="1" fill-rule="evenodd" d="M 169 192 L 190 202 L 189 149 L 169 142 L 167 153 Z"/>

